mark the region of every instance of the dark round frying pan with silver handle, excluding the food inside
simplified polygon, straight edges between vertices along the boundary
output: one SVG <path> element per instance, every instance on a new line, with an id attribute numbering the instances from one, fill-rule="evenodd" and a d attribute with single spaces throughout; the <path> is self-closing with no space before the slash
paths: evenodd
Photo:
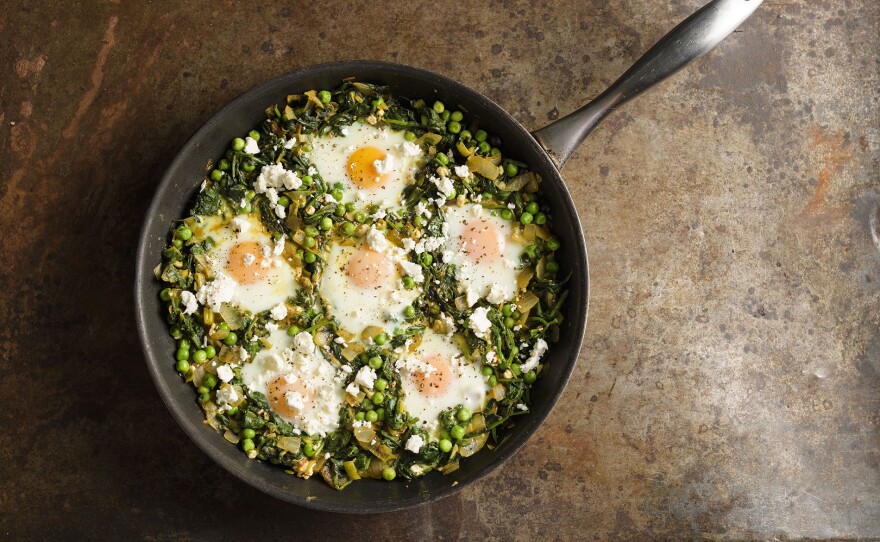
<path id="1" fill-rule="evenodd" d="M 574 368 L 587 321 L 589 273 L 587 250 L 577 211 L 559 170 L 592 129 L 615 107 L 706 53 L 730 34 L 761 0 L 715 0 L 682 22 L 607 91 L 573 114 L 530 134 L 511 115 L 479 92 L 452 79 L 387 62 L 340 62 L 290 72 L 263 83 L 221 109 L 186 143 L 160 182 L 141 232 L 135 278 L 138 331 L 150 374 L 168 409 L 189 437 L 223 468 L 248 484 L 291 503 L 320 510 L 375 513 L 434 501 L 485 476 L 519 450 L 556 403 Z M 175 344 L 162 317 L 160 285 L 152 269 L 160 260 L 171 221 L 183 216 L 204 178 L 208 159 L 222 156 L 229 140 L 264 117 L 264 109 L 285 96 L 313 88 L 332 88 L 343 78 L 390 87 L 396 96 L 440 100 L 467 111 L 480 127 L 502 138 L 506 155 L 528 163 L 543 178 L 542 189 L 553 210 L 555 234 L 562 242 L 560 269 L 570 270 L 569 301 L 560 340 L 545 357 L 542 378 L 533 386 L 532 412 L 522 416 L 494 450 L 462 462 L 448 474 L 429 473 L 409 483 L 361 480 L 343 491 L 320 476 L 310 480 L 284 474 L 267 463 L 248 459 L 205 425 L 195 395 L 172 369 Z"/>

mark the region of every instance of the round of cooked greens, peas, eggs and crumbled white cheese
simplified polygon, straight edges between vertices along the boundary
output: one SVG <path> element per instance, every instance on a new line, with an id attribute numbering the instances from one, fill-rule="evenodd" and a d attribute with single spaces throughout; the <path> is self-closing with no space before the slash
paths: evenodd
<path id="1" fill-rule="evenodd" d="M 206 423 L 338 489 L 497 445 L 567 293 L 541 179 L 500 148 L 356 81 L 233 139 L 156 268 Z"/>

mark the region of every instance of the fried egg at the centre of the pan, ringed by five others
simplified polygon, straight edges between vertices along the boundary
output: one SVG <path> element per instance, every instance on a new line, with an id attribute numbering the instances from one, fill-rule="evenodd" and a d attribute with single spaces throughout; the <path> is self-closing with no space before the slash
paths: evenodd
<path id="1" fill-rule="evenodd" d="M 358 335 L 368 326 L 392 331 L 403 322 L 419 290 L 403 287 L 402 254 L 375 228 L 356 246 L 331 247 L 318 292 L 343 329 Z"/>

